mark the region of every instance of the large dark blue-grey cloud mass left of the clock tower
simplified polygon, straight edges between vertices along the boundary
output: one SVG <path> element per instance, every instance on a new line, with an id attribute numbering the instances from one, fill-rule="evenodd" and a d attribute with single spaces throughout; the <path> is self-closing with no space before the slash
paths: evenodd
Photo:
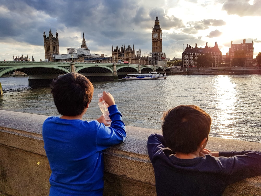
<path id="1" fill-rule="evenodd" d="M 100 45 L 118 37 L 134 39 L 142 28 L 152 28 L 156 18 L 156 10 L 152 19 L 144 8 L 135 5 L 135 1 L 118 0 L 3 0 L 0 8 L 6 13 L 0 13 L 0 39 L 12 37 L 19 42 L 43 45 L 43 31 L 48 36 L 49 21 L 52 34 L 55 36 L 57 30 L 59 38 L 73 28 L 75 32 L 85 32 L 87 40 L 98 39 Z M 65 45 L 62 39 L 59 41 L 61 46 Z"/>

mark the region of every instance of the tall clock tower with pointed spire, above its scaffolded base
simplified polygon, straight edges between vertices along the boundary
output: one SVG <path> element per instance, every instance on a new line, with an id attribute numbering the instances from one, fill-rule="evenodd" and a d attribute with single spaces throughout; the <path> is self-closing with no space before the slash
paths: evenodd
<path id="1" fill-rule="evenodd" d="M 158 13 L 152 29 L 152 53 L 162 53 L 162 31 L 159 26 Z"/>

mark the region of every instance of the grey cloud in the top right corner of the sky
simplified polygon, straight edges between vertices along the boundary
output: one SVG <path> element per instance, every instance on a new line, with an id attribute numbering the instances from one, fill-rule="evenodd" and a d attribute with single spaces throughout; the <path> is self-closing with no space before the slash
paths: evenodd
<path id="1" fill-rule="evenodd" d="M 253 5 L 248 2 L 249 0 L 228 0 L 224 3 L 222 10 L 239 16 L 261 16 L 261 0 L 254 0 Z"/>

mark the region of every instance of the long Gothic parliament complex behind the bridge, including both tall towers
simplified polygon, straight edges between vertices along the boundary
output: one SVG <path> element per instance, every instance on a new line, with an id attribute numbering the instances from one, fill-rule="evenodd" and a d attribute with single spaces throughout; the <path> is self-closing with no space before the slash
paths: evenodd
<path id="1" fill-rule="evenodd" d="M 58 32 L 56 31 L 56 37 L 54 37 L 50 27 L 49 36 L 46 37 L 44 31 L 43 37 L 46 61 L 116 63 L 118 60 L 123 60 L 129 64 L 167 65 L 166 55 L 162 53 L 162 30 L 159 26 L 158 14 L 152 30 L 152 52 L 148 53 L 147 56 L 142 56 L 140 49 L 136 50 L 135 53 L 134 45 L 128 45 L 127 47 L 122 45 L 121 47 L 116 46 L 116 48 L 112 46 L 112 56 L 110 57 L 105 56 L 103 53 L 100 55 L 91 54 L 91 50 L 86 45 L 84 33 L 81 48 L 67 48 L 67 54 L 60 54 Z"/>

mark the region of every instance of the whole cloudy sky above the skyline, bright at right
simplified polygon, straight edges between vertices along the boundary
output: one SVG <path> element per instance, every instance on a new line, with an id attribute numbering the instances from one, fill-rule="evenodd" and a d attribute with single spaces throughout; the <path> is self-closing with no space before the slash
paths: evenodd
<path id="1" fill-rule="evenodd" d="M 112 46 L 134 45 L 146 55 L 157 13 L 162 51 L 170 59 L 181 58 L 187 44 L 217 42 L 226 54 L 231 41 L 243 39 L 254 41 L 254 58 L 261 52 L 261 0 L 1 0 L 0 61 L 15 55 L 44 60 L 43 32 L 47 37 L 50 26 L 54 36 L 58 32 L 60 54 L 80 48 L 84 32 L 93 54 L 111 56 Z"/>

